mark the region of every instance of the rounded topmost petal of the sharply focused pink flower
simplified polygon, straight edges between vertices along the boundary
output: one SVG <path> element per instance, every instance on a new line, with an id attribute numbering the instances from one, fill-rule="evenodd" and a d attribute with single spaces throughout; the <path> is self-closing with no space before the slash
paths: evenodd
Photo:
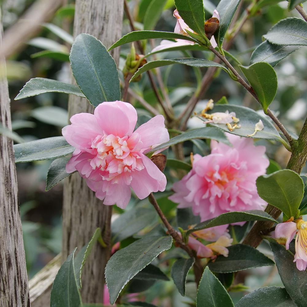
<path id="1" fill-rule="evenodd" d="M 95 108 L 94 115 L 106 134 L 121 138 L 132 134 L 138 119 L 134 107 L 122 101 L 100 103 Z"/>

